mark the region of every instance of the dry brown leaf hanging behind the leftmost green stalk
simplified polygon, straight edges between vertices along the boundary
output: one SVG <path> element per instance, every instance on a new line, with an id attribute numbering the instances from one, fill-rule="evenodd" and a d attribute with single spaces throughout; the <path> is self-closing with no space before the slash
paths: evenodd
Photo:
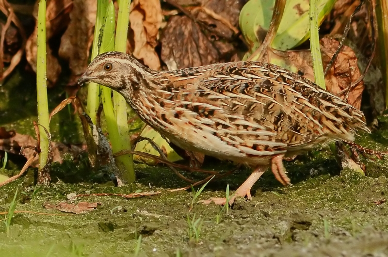
<path id="1" fill-rule="evenodd" d="M 49 39 L 56 36 L 68 24 L 68 12 L 71 9 L 72 0 L 49 0 L 46 9 L 46 56 L 47 56 L 47 80 L 48 87 L 52 87 L 58 80 L 61 73 L 61 65 L 56 57 L 53 56 L 49 46 Z M 38 1 L 34 6 L 34 17 L 37 19 Z M 36 23 L 36 22 L 35 22 Z M 28 38 L 26 43 L 26 59 L 36 72 L 36 54 L 37 54 L 37 24 L 35 30 Z"/>

